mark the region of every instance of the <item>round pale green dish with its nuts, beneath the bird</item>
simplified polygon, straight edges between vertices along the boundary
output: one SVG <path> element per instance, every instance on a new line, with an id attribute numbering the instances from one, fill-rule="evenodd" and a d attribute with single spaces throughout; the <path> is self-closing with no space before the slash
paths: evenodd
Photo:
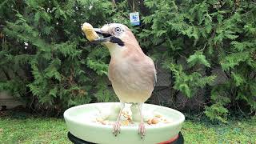
<path id="1" fill-rule="evenodd" d="M 71 134 L 87 142 L 147 144 L 165 142 L 176 137 L 185 120 L 178 110 L 144 104 L 142 113 L 146 136 L 141 138 L 138 135 L 137 116 L 131 114 L 130 105 L 126 104 L 122 110 L 121 134 L 115 137 L 112 124 L 118 117 L 119 105 L 118 102 L 103 102 L 71 107 L 64 113 L 66 126 Z"/>

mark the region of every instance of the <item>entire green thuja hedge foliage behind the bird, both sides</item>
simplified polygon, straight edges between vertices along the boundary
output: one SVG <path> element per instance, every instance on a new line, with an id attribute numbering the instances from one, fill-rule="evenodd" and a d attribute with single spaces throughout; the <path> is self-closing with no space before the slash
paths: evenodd
<path id="1" fill-rule="evenodd" d="M 175 93 L 194 98 L 205 90 L 204 113 L 226 122 L 228 114 L 256 110 L 256 2 L 249 0 L 6 0 L 0 3 L 0 90 L 31 106 L 61 110 L 109 102 L 110 55 L 86 41 L 81 24 L 119 22 L 142 50 L 172 75 Z M 140 26 L 129 13 L 140 12 Z M 162 50 L 158 47 L 165 47 Z M 226 79 L 215 82 L 220 68 Z M 233 111 L 234 110 L 234 111 Z"/>

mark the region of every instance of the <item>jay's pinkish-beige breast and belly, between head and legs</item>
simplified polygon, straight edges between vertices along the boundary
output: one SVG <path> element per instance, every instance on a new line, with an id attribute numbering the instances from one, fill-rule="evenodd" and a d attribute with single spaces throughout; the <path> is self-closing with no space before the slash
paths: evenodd
<path id="1" fill-rule="evenodd" d="M 145 102 L 154 89 L 153 75 L 145 62 L 132 59 L 111 58 L 109 79 L 114 92 L 123 102 Z"/>

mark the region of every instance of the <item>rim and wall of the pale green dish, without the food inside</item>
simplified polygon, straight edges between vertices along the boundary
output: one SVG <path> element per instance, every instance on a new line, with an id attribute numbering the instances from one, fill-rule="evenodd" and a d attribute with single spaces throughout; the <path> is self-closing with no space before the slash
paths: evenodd
<path id="1" fill-rule="evenodd" d="M 118 102 L 92 103 L 81 106 L 74 106 L 66 110 L 64 118 L 70 133 L 75 137 L 87 142 L 110 143 L 110 144 L 152 144 L 165 142 L 174 138 L 182 128 L 185 120 L 184 115 L 178 110 L 164 106 L 144 104 L 142 111 L 157 111 L 165 118 L 170 119 L 170 123 L 161 126 L 146 126 L 146 136 L 142 139 L 138 135 L 138 126 L 121 126 L 121 134 L 117 137 L 112 134 L 112 126 L 100 125 L 91 122 L 93 115 L 99 109 L 111 108 L 118 105 Z"/>

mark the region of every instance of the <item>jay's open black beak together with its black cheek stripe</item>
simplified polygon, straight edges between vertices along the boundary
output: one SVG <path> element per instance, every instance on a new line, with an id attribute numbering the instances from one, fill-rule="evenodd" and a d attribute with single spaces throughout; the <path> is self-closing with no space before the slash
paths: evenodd
<path id="1" fill-rule="evenodd" d="M 117 43 L 119 46 L 124 46 L 124 42 L 120 38 L 116 38 L 114 35 L 103 32 L 99 28 L 94 28 L 95 32 L 100 35 L 100 38 L 92 41 L 93 43 L 112 42 Z"/>

